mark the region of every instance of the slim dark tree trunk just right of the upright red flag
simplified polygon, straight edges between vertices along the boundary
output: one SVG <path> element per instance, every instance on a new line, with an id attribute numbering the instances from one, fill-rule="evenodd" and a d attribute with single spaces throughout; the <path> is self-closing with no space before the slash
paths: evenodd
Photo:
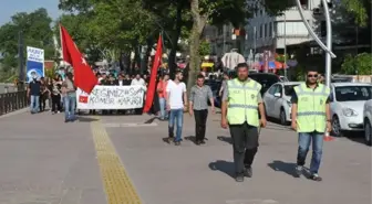
<path id="1" fill-rule="evenodd" d="M 183 19 L 182 19 L 182 12 L 184 9 L 184 1 L 182 2 L 177 2 L 177 17 L 176 17 L 176 29 L 175 31 L 172 33 L 172 49 L 170 49 L 170 53 L 169 53 L 169 61 L 168 61 L 168 66 L 169 66 L 169 74 L 170 77 L 174 77 L 174 74 L 176 72 L 177 68 L 177 64 L 176 64 L 176 53 L 177 53 L 177 44 L 178 44 L 178 39 L 180 35 L 180 30 L 183 26 Z"/>

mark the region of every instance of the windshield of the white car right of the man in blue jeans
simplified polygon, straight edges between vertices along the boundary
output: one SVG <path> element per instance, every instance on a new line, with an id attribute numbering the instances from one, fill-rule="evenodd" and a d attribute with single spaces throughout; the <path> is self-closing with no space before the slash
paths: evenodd
<path id="1" fill-rule="evenodd" d="M 339 86 L 334 92 L 337 101 L 372 99 L 372 86 Z"/>

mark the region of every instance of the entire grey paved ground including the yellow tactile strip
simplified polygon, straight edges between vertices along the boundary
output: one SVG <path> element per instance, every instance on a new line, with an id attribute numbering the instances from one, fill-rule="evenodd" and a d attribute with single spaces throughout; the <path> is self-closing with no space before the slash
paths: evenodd
<path id="1" fill-rule="evenodd" d="M 149 116 L 83 118 L 68 125 L 62 115 L 48 112 L 0 119 L 0 204 L 369 204 L 372 200 L 372 149 L 347 138 L 324 143 L 323 181 L 318 183 L 292 176 L 296 133 L 270 124 L 260 135 L 254 178 L 236 183 L 229 133 L 219 128 L 219 115 L 209 117 L 204 147 L 192 140 L 180 147 L 165 143 L 167 124 L 144 124 Z M 194 136 L 188 116 L 183 135 Z"/>

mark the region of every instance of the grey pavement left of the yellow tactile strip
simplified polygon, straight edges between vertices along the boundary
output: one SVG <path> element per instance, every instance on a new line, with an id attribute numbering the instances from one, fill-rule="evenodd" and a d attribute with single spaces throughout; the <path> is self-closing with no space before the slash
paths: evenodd
<path id="1" fill-rule="evenodd" d="M 1 204 L 104 204 L 89 122 L 63 115 L 0 119 Z"/>

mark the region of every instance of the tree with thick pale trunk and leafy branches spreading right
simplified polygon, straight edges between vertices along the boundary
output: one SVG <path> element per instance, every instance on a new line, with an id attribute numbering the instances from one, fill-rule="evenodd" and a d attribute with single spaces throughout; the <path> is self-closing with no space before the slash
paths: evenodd
<path id="1" fill-rule="evenodd" d="M 200 36 L 207 23 L 224 24 L 229 22 L 235 28 L 240 29 L 258 6 L 264 7 L 270 14 L 277 14 L 292 6 L 292 2 L 282 0 L 256 0 L 255 2 L 246 0 L 216 0 L 211 2 L 208 0 L 189 0 L 189 4 L 193 28 L 189 37 L 190 73 L 188 82 L 194 82 L 200 65 L 198 53 Z M 188 88 L 190 87 L 192 84 L 189 83 Z"/>

